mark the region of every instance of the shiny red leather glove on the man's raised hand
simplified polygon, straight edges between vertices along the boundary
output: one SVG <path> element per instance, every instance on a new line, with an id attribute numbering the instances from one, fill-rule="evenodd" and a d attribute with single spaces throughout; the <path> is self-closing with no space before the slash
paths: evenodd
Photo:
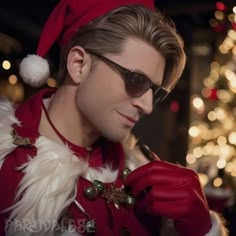
<path id="1" fill-rule="evenodd" d="M 181 236 L 203 236 L 211 229 L 209 208 L 194 171 L 153 161 L 131 172 L 125 182 L 137 207 L 172 219 Z"/>

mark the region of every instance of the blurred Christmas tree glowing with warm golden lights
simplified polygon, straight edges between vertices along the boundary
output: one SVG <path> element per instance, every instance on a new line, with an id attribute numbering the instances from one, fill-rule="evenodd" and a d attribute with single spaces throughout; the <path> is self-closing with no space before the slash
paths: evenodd
<path id="1" fill-rule="evenodd" d="M 188 166 L 199 174 L 209 205 L 220 212 L 233 205 L 236 191 L 236 7 L 227 4 L 217 2 L 210 21 L 221 41 L 201 94 L 191 98 L 186 156 Z"/>

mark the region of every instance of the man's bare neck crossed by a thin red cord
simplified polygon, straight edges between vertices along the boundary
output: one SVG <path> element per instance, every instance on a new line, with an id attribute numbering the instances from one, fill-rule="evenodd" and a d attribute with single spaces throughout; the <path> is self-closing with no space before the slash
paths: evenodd
<path id="1" fill-rule="evenodd" d="M 77 109 L 75 95 L 76 88 L 64 85 L 45 106 L 55 128 L 68 141 L 78 146 L 89 147 L 99 138 L 99 134 Z M 53 129 L 49 128 L 50 125 L 44 114 L 41 121 L 40 133 L 61 142 Z"/>

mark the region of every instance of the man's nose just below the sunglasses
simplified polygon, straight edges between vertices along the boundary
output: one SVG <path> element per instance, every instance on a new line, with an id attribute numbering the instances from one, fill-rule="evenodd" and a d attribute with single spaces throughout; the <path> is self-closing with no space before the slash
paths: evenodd
<path id="1" fill-rule="evenodd" d="M 132 105 L 138 107 L 138 109 L 143 114 L 150 114 L 153 110 L 153 93 L 152 90 L 149 89 L 145 94 L 140 97 L 132 98 Z"/>

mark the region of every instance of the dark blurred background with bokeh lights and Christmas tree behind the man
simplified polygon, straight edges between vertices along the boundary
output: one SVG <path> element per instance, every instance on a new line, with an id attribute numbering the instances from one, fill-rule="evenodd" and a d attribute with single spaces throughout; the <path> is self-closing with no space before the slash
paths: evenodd
<path id="1" fill-rule="evenodd" d="M 56 0 L 0 3 L 0 95 L 20 103 L 35 93 L 18 65 L 33 54 Z M 236 3 L 158 0 L 185 41 L 187 65 L 168 98 L 134 128 L 158 156 L 196 170 L 209 205 L 236 235 Z M 53 51 L 53 50 L 52 50 Z M 47 58 L 53 69 L 58 58 Z M 45 87 L 56 87 L 54 75 Z"/>

